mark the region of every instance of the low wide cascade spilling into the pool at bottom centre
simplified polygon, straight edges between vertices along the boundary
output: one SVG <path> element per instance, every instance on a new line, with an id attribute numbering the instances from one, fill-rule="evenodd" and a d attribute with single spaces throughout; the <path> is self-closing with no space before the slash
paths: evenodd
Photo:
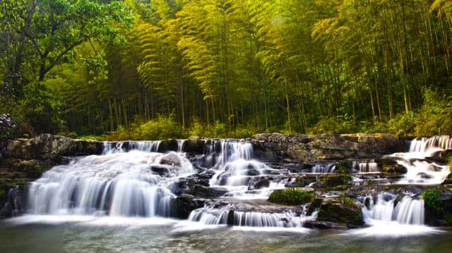
<path id="1" fill-rule="evenodd" d="M 191 212 L 189 221 L 196 221 L 205 225 L 230 225 L 258 228 L 301 228 L 304 221 L 315 218 L 313 216 L 297 216 L 292 212 L 264 213 L 258 211 L 232 211 L 230 206 L 215 209 L 206 206 Z"/>

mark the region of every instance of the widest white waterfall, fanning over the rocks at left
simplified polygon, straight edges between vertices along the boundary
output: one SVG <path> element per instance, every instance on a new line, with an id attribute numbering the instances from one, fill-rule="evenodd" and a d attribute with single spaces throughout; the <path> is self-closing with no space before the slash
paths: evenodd
<path id="1" fill-rule="evenodd" d="M 28 209 L 32 214 L 170 216 L 175 196 L 169 184 L 193 172 L 190 161 L 176 152 L 86 156 L 33 182 Z"/>

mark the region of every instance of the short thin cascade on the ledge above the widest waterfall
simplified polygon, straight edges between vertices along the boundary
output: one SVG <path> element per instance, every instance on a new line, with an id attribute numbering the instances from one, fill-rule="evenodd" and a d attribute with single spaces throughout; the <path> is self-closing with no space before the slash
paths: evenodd
<path id="1" fill-rule="evenodd" d="M 141 141 L 141 142 L 104 142 L 104 150 L 102 154 L 125 153 L 131 150 L 143 152 L 157 152 L 160 147 L 160 140 Z"/>

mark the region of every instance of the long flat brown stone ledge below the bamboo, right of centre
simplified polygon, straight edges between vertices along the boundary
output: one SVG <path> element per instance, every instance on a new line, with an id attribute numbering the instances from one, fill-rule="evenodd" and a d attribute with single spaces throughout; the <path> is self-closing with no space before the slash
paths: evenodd
<path id="1" fill-rule="evenodd" d="M 403 152 L 405 140 L 386 134 L 349 135 L 253 135 L 256 156 L 265 161 L 294 163 L 348 158 L 374 158 L 381 154 Z"/>

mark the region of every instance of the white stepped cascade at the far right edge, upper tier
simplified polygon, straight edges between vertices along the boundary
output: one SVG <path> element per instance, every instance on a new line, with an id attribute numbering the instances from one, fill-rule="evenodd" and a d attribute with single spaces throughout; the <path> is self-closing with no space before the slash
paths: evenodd
<path id="1" fill-rule="evenodd" d="M 409 152 L 391 154 L 400 166 L 407 168 L 407 173 L 398 184 L 439 185 L 450 173 L 449 166 L 425 160 L 436 152 L 451 149 L 449 136 L 434 136 L 412 140 Z"/>

